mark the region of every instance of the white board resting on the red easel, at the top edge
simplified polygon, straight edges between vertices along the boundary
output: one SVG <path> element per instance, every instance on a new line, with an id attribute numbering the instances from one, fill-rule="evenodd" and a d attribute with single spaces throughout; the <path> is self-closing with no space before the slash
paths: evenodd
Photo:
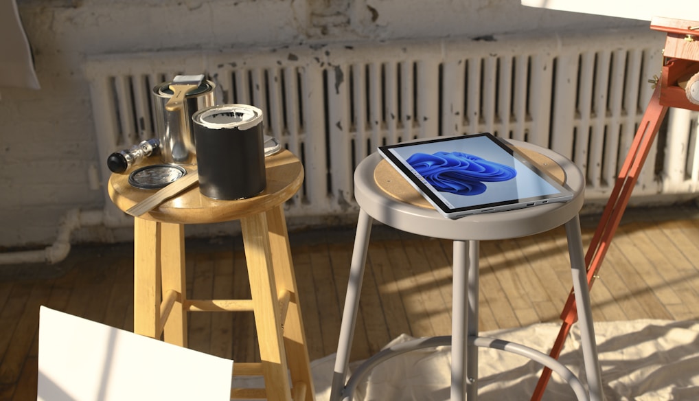
<path id="1" fill-rule="evenodd" d="M 652 17 L 699 21 L 698 0 L 521 0 L 523 6 L 650 21 Z"/>

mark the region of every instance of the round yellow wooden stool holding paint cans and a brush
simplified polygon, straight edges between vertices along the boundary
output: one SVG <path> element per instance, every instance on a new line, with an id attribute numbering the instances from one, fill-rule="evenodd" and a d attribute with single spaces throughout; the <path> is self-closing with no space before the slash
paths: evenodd
<path id="1" fill-rule="evenodd" d="M 301 187 L 303 166 L 287 150 L 266 157 L 265 163 L 267 187 L 258 196 L 217 201 L 201 195 L 195 185 L 136 217 L 134 332 L 153 338 L 162 334 L 166 342 L 187 347 L 187 312 L 252 311 L 261 363 L 236 362 L 233 375 L 261 375 L 265 388 L 233 389 L 231 398 L 313 401 L 308 346 L 283 210 L 284 202 Z M 127 174 L 113 174 L 108 191 L 121 210 L 154 193 L 131 187 Z M 185 224 L 231 220 L 240 220 L 252 299 L 187 299 Z"/>

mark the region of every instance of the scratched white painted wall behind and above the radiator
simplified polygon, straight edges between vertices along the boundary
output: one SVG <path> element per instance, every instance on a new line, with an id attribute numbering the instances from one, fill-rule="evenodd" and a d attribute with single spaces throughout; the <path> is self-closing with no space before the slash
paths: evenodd
<path id="1" fill-rule="evenodd" d="M 41 89 L 0 87 L 0 249 L 48 245 L 68 210 L 103 207 L 87 57 L 647 29 L 635 20 L 525 8 L 519 0 L 17 0 L 17 6 Z M 82 228 L 73 242 L 113 241 L 128 231 Z"/>

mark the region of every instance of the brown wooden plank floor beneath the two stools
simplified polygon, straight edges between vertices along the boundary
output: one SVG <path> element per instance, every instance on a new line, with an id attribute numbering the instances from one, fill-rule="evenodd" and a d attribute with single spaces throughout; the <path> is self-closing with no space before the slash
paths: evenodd
<path id="1" fill-rule="evenodd" d="M 699 319 L 698 216 L 694 207 L 627 212 L 593 286 L 597 321 Z M 585 244 L 596 223 L 583 219 Z M 354 228 L 290 236 L 313 360 L 336 351 Z M 481 330 L 558 322 L 570 291 L 566 246 L 562 229 L 482 242 Z M 451 261 L 448 241 L 376 226 L 352 359 L 401 333 L 448 334 Z M 187 240 L 187 272 L 190 297 L 249 296 L 240 238 Z M 0 400 L 36 399 L 39 305 L 132 330 L 132 297 L 130 243 L 75 247 L 52 266 L 0 266 Z M 250 313 L 190 314 L 193 349 L 256 360 L 255 338 Z"/>

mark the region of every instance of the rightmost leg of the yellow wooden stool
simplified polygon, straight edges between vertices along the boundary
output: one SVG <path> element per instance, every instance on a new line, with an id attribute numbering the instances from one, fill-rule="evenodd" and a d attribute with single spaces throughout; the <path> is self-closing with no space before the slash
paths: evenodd
<path id="1" fill-rule="evenodd" d="M 284 325 L 284 348 L 287 351 L 291 381 L 294 387 L 298 384 L 305 384 L 306 391 L 303 400 L 313 401 L 315 395 L 313 394 L 312 374 L 308 358 L 308 344 L 305 340 L 301 302 L 298 300 L 298 287 L 291 259 L 287 221 L 284 219 L 282 205 L 267 212 L 267 224 L 277 290 L 291 292 L 286 320 L 282 322 Z"/>

